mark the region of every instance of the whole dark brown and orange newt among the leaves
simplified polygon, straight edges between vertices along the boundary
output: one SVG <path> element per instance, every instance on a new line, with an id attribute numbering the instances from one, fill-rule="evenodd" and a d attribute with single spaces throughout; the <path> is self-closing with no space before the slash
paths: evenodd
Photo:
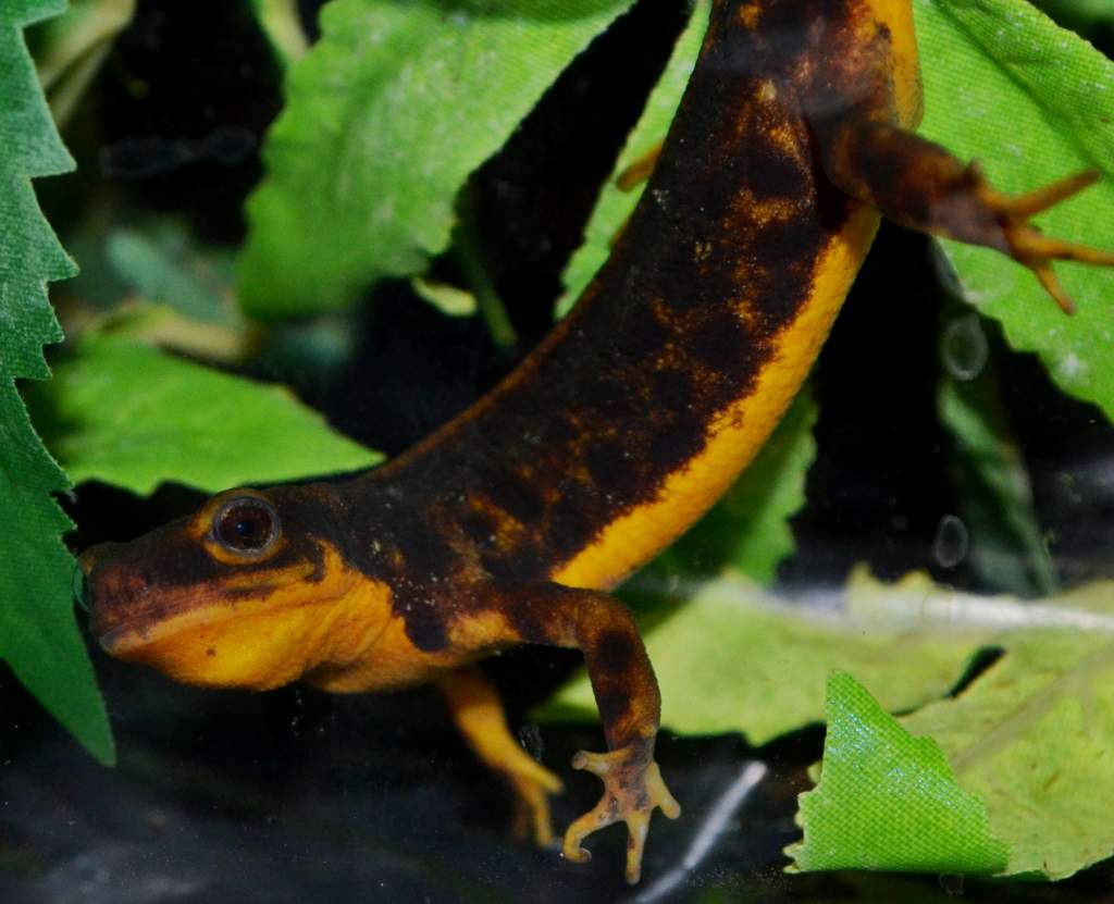
<path id="1" fill-rule="evenodd" d="M 654 759 L 659 695 L 608 590 L 746 466 L 817 357 L 880 218 L 985 245 L 1065 309 L 1057 259 L 1114 254 L 1029 218 L 1091 175 L 1022 196 L 918 137 L 911 0 L 716 0 L 648 184 L 574 311 L 496 389 L 342 482 L 234 489 L 80 558 L 91 630 L 120 659 L 207 687 L 350 694 L 434 682 L 510 783 L 538 843 L 561 783 L 508 730 L 477 660 L 583 651 L 604 783 L 563 853 L 680 806 Z"/>

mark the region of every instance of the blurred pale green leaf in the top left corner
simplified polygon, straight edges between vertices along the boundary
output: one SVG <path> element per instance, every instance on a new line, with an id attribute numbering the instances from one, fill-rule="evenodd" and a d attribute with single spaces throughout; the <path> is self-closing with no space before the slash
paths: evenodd
<path id="1" fill-rule="evenodd" d="M 59 127 L 100 70 L 116 36 L 131 22 L 135 7 L 135 0 L 75 0 L 61 16 L 29 33 L 39 79 Z"/>

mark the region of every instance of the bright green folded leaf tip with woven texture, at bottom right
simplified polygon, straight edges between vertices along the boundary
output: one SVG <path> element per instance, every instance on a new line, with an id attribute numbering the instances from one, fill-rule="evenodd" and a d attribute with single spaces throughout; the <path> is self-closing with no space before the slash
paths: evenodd
<path id="1" fill-rule="evenodd" d="M 850 675 L 828 681 L 820 784 L 800 796 L 801 871 L 899 869 L 993 874 L 1007 847 L 986 806 L 957 783 L 940 746 L 913 737 Z"/>

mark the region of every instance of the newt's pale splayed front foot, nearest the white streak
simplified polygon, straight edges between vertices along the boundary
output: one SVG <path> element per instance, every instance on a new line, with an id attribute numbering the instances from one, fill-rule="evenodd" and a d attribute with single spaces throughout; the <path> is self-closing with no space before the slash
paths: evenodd
<path id="1" fill-rule="evenodd" d="M 574 863 L 587 862 L 592 854 L 580 846 L 580 842 L 593 832 L 622 819 L 627 824 L 626 878 L 634 885 L 642 875 L 642 852 L 654 807 L 661 807 L 671 819 L 681 815 L 681 805 L 665 787 L 653 750 L 641 744 L 607 754 L 580 750 L 573 757 L 573 768 L 599 776 L 604 795 L 595 807 L 568 827 L 561 853 Z"/>

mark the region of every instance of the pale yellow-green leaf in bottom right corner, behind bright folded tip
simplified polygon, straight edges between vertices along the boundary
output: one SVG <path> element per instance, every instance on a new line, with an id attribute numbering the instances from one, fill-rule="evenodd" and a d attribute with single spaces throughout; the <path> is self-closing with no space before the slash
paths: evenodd
<path id="1" fill-rule="evenodd" d="M 1114 855 L 1114 586 L 1057 602 L 1058 627 L 1003 638 L 962 695 L 902 719 L 986 800 L 1009 875 L 1062 878 Z"/>

